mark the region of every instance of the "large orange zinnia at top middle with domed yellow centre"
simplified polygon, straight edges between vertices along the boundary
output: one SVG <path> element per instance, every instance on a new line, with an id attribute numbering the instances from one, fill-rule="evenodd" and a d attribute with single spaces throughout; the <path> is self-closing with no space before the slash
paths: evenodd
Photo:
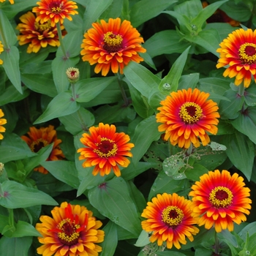
<path id="1" fill-rule="evenodd" d="M 133 28 L 128 20 L 121 23 L 120 18 L 110 18 L 108 23 L 100 20 L 100 23 L 92 23 L 83 37 L 81 55 L 83 61 L 96 64 L 94 72 L 102 72 L 108 75 L 111 70 L 122 74 L 129 61 L 140 63 L 143 61 L 138 53 L 145 53 L 146 49 L 140 43 L 144 42 L 137 29 Z"/>

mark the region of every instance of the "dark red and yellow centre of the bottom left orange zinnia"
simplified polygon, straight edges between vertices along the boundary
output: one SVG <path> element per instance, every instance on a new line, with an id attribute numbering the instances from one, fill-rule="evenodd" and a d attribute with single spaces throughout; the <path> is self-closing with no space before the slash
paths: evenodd
<path id="1" fill-rule="evenodd" d="M 58 237 L 62 244 L 70 246 L 78 243 L 79 232 L 77 229 L 80 228 L 80 225 L 75 224 L 75 221 L 63 219 L 57 228 L 59 229 Z"/>

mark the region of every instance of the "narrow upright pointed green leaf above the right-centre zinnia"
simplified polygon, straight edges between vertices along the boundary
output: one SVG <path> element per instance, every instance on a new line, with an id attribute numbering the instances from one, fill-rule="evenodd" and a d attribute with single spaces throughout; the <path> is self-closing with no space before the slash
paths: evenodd
<path id="1" fill-rule="evenodd" d="M 168 74 L 161 80 L 161 83 L 159 83 L 159 91 L 165 91 L 163 89 L 163 86 L 165 83 L 170 85 L 170 90 L 169 91 L 177 91 L 178 89 L 178 80 L 181 78 L 181 73 L 184 69 L 184 66 L 187 61 L 187 55 L 189 53 L 189 48 L 188 47 L 184 52 L 181 54 L 181 56 L 176 59 L 174 62 L 173 66 L 171 67 L 170 71 Z M 169 91 L 165 91 L 166 94 L 169 94 Z"/>

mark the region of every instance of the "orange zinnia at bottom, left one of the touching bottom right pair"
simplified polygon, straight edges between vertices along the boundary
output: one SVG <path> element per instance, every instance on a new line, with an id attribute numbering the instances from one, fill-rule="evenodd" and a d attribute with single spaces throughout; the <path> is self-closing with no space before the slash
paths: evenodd
<path id="1" fill-rule="evenodd" d="M 192 202 L 180 197 L 176 193 L 173 195 L 164 193 L 152 198 L 152 203 L 148 202 L 141 214 L 146 218 L 141 222 L 143 230 L 153 232 L 149 240 L 157 241 L 161 246 L 164 241 L 168 249 L 176 246 L 181 248 L 181 244 L 187 244 L 186 237 L 193 241 L 199 229 L 194 225 L 197 219 L 192 218 Z"/>

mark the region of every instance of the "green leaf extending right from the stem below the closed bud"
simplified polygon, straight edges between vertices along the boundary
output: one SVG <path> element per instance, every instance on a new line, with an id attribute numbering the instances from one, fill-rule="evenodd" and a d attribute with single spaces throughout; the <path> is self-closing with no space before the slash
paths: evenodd
<path id="1" fill-rule="evenodd" d="M 77 94 L 76 102 L 89 102 L 91 99 L 97 97 L 106 87 L 113 83 L 117 78 L 88 78 L 79 80 L 75 83 L 75 90 Z"/>

